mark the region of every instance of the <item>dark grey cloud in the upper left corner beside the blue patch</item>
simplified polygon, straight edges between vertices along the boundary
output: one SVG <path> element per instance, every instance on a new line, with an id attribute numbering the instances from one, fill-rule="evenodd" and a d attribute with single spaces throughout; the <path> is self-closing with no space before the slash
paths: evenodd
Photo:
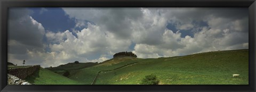
<path id="1" fill-rule="evenodd" d="M 25 8 L 10 9 L 9 14 L 8 40 L 16 40 L 28 47 L 43 48 L 45 30 L 41 23 L 29 16 L 30 11 Z"/>

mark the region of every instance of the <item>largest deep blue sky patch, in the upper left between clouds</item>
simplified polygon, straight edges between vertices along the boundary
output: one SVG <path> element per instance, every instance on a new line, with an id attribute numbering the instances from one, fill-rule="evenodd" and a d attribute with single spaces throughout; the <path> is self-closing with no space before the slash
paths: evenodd
<path id="1" fill-rule="evenodd" d="M 53 32 L 71 30 L 75 27 L 75 19 L 70 19 L 65 11 L 55 7 L 31 7 L 34 13 L 31 14 L 37 22 L 42 23 L 45 30 Z"/>

